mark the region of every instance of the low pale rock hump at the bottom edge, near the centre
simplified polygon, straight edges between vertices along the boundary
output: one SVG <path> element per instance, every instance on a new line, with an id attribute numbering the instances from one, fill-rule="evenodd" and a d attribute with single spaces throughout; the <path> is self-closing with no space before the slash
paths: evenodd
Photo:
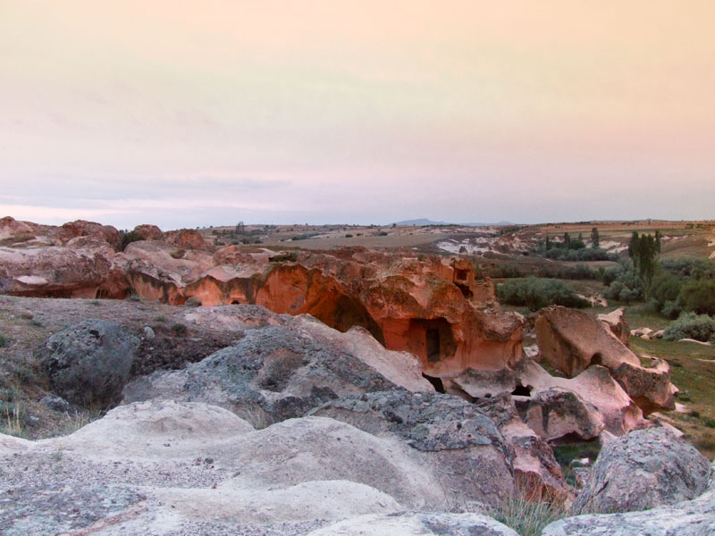
<path id="1" fill-rule="evenodd" d="M 517 536 L 508 526 L 480 514 L 416 512 L 361 515 L 333 523 L 307 536 Z"/>

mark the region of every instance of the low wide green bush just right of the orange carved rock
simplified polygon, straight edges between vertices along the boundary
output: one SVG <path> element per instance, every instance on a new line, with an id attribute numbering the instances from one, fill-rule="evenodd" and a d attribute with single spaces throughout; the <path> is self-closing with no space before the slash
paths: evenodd
<path id="1" fill-rule="evenodd" d="M 497 296 L 501 303 L 510 306 L 526 306 L 538 311 L 546 306 L 588 307 L 591 304 L 578 297 L 563 281 L 538 279 L 534 276 L 527 280 L 506 281 L 497 287 Z"/>

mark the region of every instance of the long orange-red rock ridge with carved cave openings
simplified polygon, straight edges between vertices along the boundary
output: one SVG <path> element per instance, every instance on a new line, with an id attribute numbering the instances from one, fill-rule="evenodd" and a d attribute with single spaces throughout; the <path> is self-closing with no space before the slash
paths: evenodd
<path id="1" fill-rule="evenodd" d="M 10 229 L 12 222 L 6 222 Z M 15 222 L 16 223 L 16 222 Z M 17 225 L 15 225 L 17 227 Z M 0 292 L 34 297 L 127 297 L 182 305 L 256 304 L 310 314 L 339 331 L 361 326 L 385 348 L 419 357 L 425 373 L 503 371 L 522 356 L 519 314 L 499 309 L 492 281 L 460 258 L 405 257 L 361 248 L 331 254 L 243 253 L 212 247 L 197 230 L 136 230 L 124 251 L 114 228 L 71 222 L 42 244 L 0 249 Z"/>

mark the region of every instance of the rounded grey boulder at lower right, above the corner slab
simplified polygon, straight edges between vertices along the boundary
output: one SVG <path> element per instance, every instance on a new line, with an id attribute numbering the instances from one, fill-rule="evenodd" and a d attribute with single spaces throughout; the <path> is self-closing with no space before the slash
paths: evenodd
<path id="1" fill-rule="evenodd" d="M 632 431 L 601 449 L 574 514 L 633 512 L 674 505 L 705 491 L 710 464 L 663 428 Z"/>

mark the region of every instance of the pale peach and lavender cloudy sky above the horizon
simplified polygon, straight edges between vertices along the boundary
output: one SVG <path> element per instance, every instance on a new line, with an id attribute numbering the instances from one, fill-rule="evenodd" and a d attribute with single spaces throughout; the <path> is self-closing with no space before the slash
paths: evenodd
<path id="1" fill-rule="evenodd" d="M 0 216 L 715 217 L 715 2 L 0 0 Z"/>

